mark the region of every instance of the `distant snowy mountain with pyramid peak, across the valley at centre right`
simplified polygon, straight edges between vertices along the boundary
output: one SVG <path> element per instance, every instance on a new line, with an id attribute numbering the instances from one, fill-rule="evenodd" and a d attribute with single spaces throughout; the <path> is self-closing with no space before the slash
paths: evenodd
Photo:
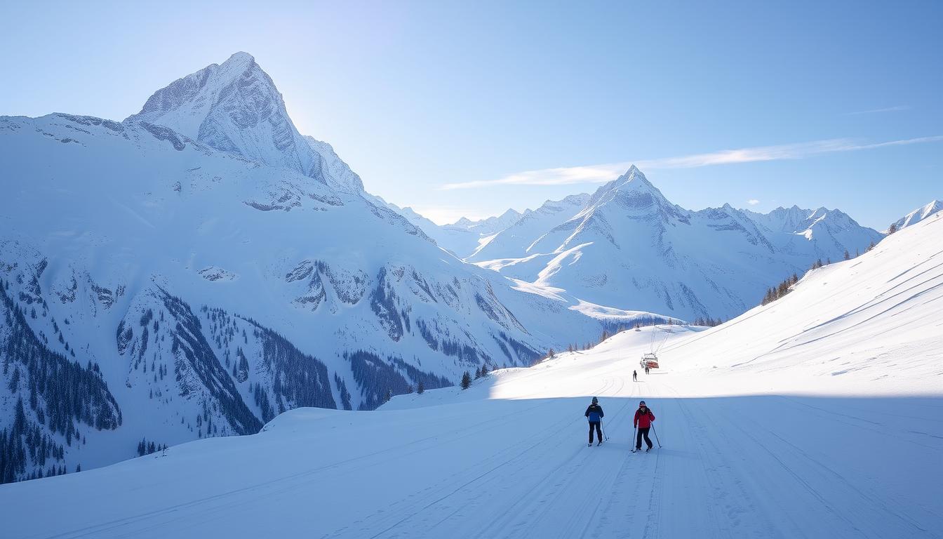
<path id="1" fill-rule="evenodd" d="M 530 229 L 525 216 L 470 260 L 590 303 L 691 320 L 735 316 L 812 262 L 881 238 L 840 211 L 687 211 L 636 167 L 567 213 Z"/>

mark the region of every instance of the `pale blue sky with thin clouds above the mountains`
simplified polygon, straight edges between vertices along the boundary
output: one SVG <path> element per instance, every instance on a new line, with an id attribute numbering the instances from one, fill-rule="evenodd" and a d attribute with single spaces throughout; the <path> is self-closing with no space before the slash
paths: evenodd
<path id="1" fill-rule="evenodd" d="M 940 2 L 259 6 L 4 3 L 0 114 L 123 119 L 246 51 L 299 130 L 439 222 L 591 192 L 631 162 L 692 210 L 884 228 L 943 197 Z"/>

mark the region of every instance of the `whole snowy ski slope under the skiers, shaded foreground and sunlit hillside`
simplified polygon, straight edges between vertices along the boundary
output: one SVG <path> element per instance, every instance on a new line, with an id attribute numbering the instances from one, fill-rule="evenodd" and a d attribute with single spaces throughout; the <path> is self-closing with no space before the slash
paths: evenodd
<path id="1" fill-rule="evenodd" d="M 941 297 L 931 217 L 718 328 L 624 331 L 465 391 L 2 485 L 3 534 L 940 537 Z M 639 399 L 650 453 L 630 453 Z"/>

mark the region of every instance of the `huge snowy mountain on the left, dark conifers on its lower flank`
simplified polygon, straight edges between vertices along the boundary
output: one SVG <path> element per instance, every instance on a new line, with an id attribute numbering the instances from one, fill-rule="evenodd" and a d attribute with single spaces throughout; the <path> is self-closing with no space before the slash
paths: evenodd
<path id="1" fill-rule="evenodd" d="M 113 463 L 142 439 L 254 432 L 297 406 L 372 409 L 619 323 L 455 259 L 295 133 L 247 55 L 124 123 L 0 118 L 0 432 L 16 430 L 15 478 Z M 63 362 L 80 398 L 43 393 Z M 92 413 L 91 398 L 117 409 Z"/>

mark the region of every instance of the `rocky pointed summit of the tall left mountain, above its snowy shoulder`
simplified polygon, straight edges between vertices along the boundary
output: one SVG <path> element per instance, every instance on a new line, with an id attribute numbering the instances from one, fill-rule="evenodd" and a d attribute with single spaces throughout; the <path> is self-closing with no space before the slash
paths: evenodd
<path id="1" fill-rule="evenodd" d="M 272 78 L 244 52 L 175 80 L 124 121 L 168 127 L 212 148 L 288 168 L 341 191 L 363 190 L 354 174 L 325 172 L 333 160 L 325 162 L 324 155 L 333 150 L 312 147 L 302 137 Z"/>

